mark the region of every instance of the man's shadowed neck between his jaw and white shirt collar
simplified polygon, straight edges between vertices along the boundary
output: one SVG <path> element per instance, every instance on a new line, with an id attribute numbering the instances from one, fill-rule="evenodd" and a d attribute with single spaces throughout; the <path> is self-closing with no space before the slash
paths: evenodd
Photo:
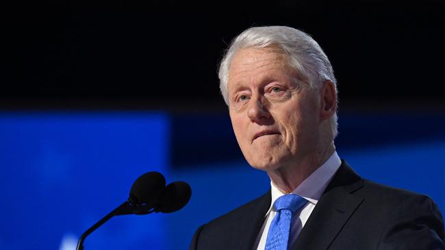
<path id="1" fill-rule="evenodd" d="M 268 171 L 268 176 L 282 193 L 291 193 L 325 163 L 333 152 L 335 152 L 335 145 L 331 142 L 326 148 L 299 158 L 296 164 Z"/>

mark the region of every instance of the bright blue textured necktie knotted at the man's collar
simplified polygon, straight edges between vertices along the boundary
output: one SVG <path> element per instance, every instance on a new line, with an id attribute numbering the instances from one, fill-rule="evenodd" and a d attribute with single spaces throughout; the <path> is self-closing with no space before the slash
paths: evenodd
<path id="1" fill-rule="evenodd" d="M 277 214 L 270 223 L 265 250 L 288 249 L 292 214 L 306 203 L 306 199 L 294 194 L 283 195 L 274 202 L 273 206 Z"/>

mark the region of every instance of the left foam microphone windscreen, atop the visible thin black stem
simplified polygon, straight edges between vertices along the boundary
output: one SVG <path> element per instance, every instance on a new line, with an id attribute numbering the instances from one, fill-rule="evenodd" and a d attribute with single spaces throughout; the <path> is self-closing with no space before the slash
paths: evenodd
<path id="1" fill-rule="evenodd" d="M 165 189 L 165 178 L 162 173 L 151 171 L 139 176 L 131 186 L 130 202 L 135 205 L 147 204 L 150 207 L 159 203 Z"/>

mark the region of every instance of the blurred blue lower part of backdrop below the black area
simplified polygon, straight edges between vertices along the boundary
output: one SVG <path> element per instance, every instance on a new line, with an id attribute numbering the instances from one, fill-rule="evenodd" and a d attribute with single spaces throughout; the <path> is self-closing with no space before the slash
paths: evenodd
<path id="1" fill-rule="evenodd" d="M 445 210 L 441 113 L 340 113 L 336 140 L 364 178 L 425 193 Z M 173 214 L 114 217 L 85 249 L 187 249 L 196 227 L 262 195 L 227 113 L 0 113 L 0 249 L 74 249 L 84 230 L 127 199 L 133 180 L 160 171 L 192 186 Z"/>

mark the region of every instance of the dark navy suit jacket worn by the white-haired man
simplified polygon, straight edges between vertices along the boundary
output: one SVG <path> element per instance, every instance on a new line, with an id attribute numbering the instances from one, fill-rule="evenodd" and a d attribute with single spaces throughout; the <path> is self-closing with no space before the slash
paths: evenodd
<path id="1" fill-rule="evenodd" d="M 270 191 L 196 230 L 190 250 L 251 250 Z M 296 240 L 298 250 L 445 249 L 432 199 L 364 180 L 342 161 Z"/>

